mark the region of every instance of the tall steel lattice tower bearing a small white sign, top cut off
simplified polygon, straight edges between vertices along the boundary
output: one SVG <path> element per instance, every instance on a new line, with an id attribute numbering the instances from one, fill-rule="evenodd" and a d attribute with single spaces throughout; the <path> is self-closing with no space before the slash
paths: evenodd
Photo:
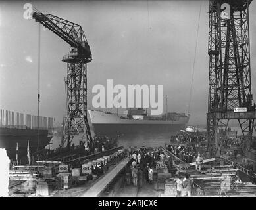
<path id="1" fill-rule="evenodd" d="M 220 155 L 218 130 L 238 120 L 250 149 L 255 129 L 249 43 L 252 0 L 210 0 L 207 148 Z"/>

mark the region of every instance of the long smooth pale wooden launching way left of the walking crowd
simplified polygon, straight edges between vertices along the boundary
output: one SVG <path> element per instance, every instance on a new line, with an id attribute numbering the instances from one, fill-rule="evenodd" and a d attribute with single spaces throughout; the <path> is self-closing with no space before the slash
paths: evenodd
<path id="1" fill-rule="evenodd" d="M 127 165 L 130 161 L 129 157 L 124 158 L 118 165 L 116 165 L 111 171 L 109 171 L 106 175 L 97 180 L 91 188 L 89 188 L 82 197 L 97 197 L 107 186 L 111 183 L 111 181 L 122 171 L 122 169 Z"/>

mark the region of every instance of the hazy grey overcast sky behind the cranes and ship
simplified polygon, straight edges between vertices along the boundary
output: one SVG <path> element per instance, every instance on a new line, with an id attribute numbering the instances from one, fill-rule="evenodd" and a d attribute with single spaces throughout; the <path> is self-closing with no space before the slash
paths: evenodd
<path id="1" fill-rule="evenodd" d="M 200 1 L 1 1 L 0 108 L 37 114 L 38 23 L 23 18 L 24 3 L 80 24 L 91 47 L 88 108 L 93 85 L 164 85 L 169 112 L 188 112 Z M 209 1 L 202 1 L 190 124 L 206 121 Z M 250 6 L 251 73 L 256 90 L 256 1 Z M 42 116 L 66 112 L 61 59 L 69 46 L 41 28 Z M 165 102 L 164 102 L 165 104 Z"/>

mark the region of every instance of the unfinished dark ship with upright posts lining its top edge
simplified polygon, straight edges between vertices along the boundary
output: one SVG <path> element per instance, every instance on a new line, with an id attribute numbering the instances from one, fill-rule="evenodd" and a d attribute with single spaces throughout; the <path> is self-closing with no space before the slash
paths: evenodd
<path id="1" fill-rule="evenodd" d="M 7 150 L 10 159 L 16 159 L 17 143 L 18 158 L 22 159 L 26 157 L 28 140 L 32 154 L 37 148 L 45 148 L 53 138 L 52 117 L 25 115 L 7 110 L 0 112 L 0 148 Z"/>

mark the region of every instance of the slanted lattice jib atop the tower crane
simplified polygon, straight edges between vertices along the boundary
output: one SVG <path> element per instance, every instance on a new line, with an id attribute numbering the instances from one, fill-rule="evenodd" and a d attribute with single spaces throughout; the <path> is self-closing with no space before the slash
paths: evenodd
<path id="1" fill-rule="evenodd" d="M 53 33 L 61 37 L 61 39 L 66 41 L 70 46 L 77 47 L 80 51 L 79 53 L 85 58 L 91 58 L 90 46 L 86 41 L 86 37 L 81 26 L 51 14 L 45 15 L 34 12 L 32 18 L 45 26 L 45 28 L 53 31 Z"/>

